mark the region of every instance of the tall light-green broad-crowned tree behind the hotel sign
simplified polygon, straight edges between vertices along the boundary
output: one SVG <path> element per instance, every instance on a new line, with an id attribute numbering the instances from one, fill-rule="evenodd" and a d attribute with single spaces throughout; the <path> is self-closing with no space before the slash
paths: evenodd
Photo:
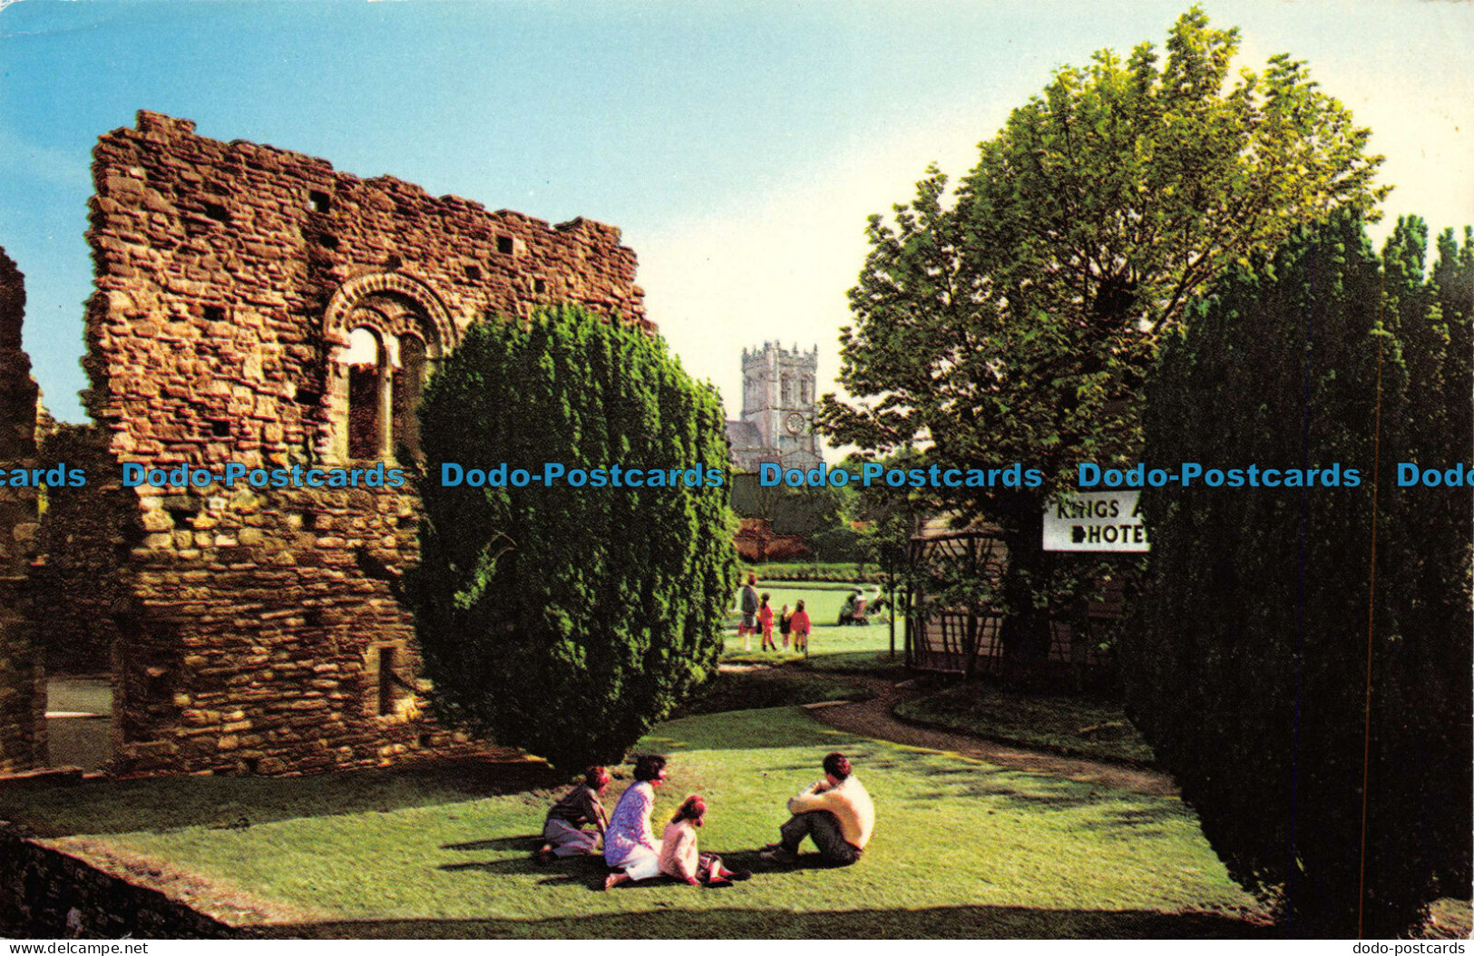
<path id="1" fill-rule="evenodd" d="M 1042 551 L 1045 501 L 1076 463 L 1132 461 L 1162 334 L 1222 268 L 1275 249 L 1337 205 L 1371 208 L 1368 130 L 1275 56 L 1229 82 L 1238 32 L 1192 7 L 1123 62 L 1066 66 L 980 147 L 948 205 L 935 166 L 895 221 L 871 217 L 840 380 L 821 427 L 840 443 L 937 461 L 1038 467 L 1038 488 L 965 489 L 939 505 L 998 524 L 1010 654 L 1048 645 L 1047 608 L 1098 563 Z"/>

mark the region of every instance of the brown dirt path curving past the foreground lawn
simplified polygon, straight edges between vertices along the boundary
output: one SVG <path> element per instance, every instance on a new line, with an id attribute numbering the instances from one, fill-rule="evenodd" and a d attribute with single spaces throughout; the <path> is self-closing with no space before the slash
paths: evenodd
<path id="1" fill-rule="evenodd" d="M 1085 757 L 1061 757 L 1011 744 L 998 744 L 970 734 L 935 731 L 905 723 L 898 720 L 890 711 L 901 701 L 915 697 L 917 692 L 914 689 L 861 675 L 846 675 L 845 679 L 864 685 L 874 692 L 874 697 L 865 701 L 831 704 L 811 710 L 817 720 L 837 731 L 893 741 L 907 747 L 952 751 L 971 760 L 983 760 L 1013 770 L 1048 773 L 1049 776 L 1063 776 L 1083 784 L 1100 784 L 1138 794 L 1178 794 L 1172 778 L 1160 770 L 1139 770 L 1136 767 L 1088 760 Z"/>

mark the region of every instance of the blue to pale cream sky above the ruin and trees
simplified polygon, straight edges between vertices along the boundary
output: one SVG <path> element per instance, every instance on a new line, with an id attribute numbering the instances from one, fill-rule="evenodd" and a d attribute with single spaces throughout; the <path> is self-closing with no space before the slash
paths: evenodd
<path id="1" fill-rule="evenodd" d="M 624 228 L 685 367 L 740 398 L 743 346 L 837 371 L 871 212 L 954 177 L 1052 69 L 1160 44 L 1175 1 L 0 0 L 0 246 L 27 274 L 47 405 L 81 420 L 97 136 L 137 109 L 553 222 Z M 1371 125 L 1386 209 L 1474 222 L 1474 3 L 1207 0 Z M 824 387 L 824 386 L 821 386 Z M 728 405 L 730 414 L 736 408 Z"/>

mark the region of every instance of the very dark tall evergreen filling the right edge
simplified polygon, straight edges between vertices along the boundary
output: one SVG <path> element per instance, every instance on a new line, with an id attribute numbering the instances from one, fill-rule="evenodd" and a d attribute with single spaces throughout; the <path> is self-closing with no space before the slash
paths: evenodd
<path id="1" fill-rule="evenodd" d="M 1296 935 L 1399 935 L 1471 876 L 1474 501 L 1396 464 L 1468 465 L 1474 242 L 1446 234 L 1431 281 L 1424 246 L 1417 219 L 1381 261 L 1356 215 L 1297 230 L 1191 306 L 1148 389 L 1154 461 L 1341 471 L 1144 492 L 1123 641 L 1134 720 Z"/>

